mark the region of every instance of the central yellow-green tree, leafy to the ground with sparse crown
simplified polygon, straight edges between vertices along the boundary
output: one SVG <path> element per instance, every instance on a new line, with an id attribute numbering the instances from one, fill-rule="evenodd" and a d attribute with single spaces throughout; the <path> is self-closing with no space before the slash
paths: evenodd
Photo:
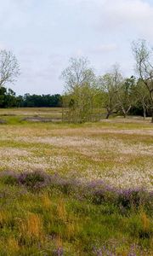
<path id="1" fill-rule="evenodd" d="M 75 123 L 92 120 L 96 78 L 88 59 L 71 58 L 61 78 L 65 81 L 63 119 Z"/>

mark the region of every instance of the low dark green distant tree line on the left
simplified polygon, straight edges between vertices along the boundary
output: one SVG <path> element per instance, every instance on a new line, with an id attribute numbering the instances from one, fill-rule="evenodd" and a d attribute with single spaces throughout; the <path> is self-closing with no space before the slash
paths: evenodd
<path id="1" fill-rule="evenodd" d="M 0 108 L 56 108 L 62 106 L 62 99 L 59 94 L 55 95 L 30 95 L 16 96 L 14 90 L 0 87 Z"/>

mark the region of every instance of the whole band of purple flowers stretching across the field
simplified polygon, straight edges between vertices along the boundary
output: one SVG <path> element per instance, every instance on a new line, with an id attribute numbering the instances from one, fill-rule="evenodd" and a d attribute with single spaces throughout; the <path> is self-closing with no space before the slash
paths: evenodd
<path id="1" fill-rule="evenodd" d="M 74 195 L 78 200 L 86 199 L 96 205 L 111 203 L 119 207 L 122 213 L 131 207 L 153 206 L 153 193 L 142 188 L 116 189 L 103 180 L 82 183 L 76 178 L 60 177 L 57 173 L 48 174 L 42 171 L 1 172 L 0 180 L 8 185 L 19 184 L 34 191 L 49 186 L 66 195 Z"/>

